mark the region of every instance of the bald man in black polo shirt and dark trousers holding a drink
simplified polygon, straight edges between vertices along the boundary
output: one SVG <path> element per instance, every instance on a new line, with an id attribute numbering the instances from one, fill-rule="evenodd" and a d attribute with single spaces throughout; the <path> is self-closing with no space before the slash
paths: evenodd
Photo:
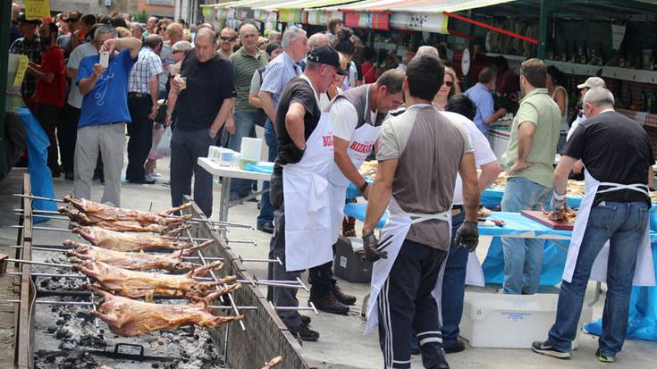
<path id="1" fill-rule="evenodd" d="M 212 175 L 197 161 L 207 156 L 208 147 L 215 143 L 236 95 L 232 65 L 215 53 L 215 31 L 199 29 L 194 53 L 190 53 L 195 57 L 182 63 L 169 97 L 170 103 L 175 101 L 177 116 L 171 138 L 171 202 L 180 206 L 183 197 L 190 195 L 193 174 L 194 201 L 207 217 L 212 214 Z M 187 80 L 183 82 L 181 77 Z M 167 111 L 167 115 L 171 113 Z"/>

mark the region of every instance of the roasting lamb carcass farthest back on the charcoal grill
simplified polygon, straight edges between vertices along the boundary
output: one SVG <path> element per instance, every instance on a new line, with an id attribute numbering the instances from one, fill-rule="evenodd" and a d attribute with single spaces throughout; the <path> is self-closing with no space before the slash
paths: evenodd
<path id="1" fill-rule="evenodd" d="M 80 213 L 84 213 L 92 222 L 118 222 L 118 221 L 127 221 L 127 222 L 139 222 L 142 226 L 147 226 L 148 224 L 159 224 L 159 225 L 177 225 L 181 222 L 184 222 L 191 218 L 191 215 L 183 215 L 181 217 L 173 217 L 171 214 L 179 212 L 182 209 L 189 207 L 191 204 L 183 204 L 178 207 L 173 207 L 169 210 L 165 210 L 160 214 L 154 214 L 149 212 L 141 212 L 139 210 L 133 209 L 124 209 L 122 207 L 114 207 L 110 205 L 100 204 L 93 201 L 88 201 L 84 198 L 76 199 L 71 196 L 63 197 L 63 202 L 73 205 Z M 62 210 L 60 210 L 62 212 Z"/>

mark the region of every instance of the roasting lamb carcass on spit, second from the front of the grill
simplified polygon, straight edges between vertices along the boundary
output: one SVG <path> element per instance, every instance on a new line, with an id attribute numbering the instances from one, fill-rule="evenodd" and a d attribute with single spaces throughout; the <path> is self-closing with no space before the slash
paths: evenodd
<path id="1" fill-rule="evenodd" d="M 204 265 L 187 274 L 137 272 L 103 262 L 81 261 L 75 258 L 72 258 L 71 262 L 73 269 L 98 281 L 101 288 L 126 298 L 146 298 L 150 300 L 154 295 L 171 298 L 203 297 L 210 293 L 215 286 L 235 281 L 234 276 L 217 281 L 194 280 L 194 277 L 221 267 L 223 264 L 221 261 Z M 239 288 L 240 284 L 235 283 L 218 291 L 222 292 L 223 295 Z"/>

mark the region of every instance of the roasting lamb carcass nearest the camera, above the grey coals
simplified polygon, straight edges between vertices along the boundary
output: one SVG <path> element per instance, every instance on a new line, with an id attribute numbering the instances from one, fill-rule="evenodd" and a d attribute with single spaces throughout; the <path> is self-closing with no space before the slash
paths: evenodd
<path id="1" fill-rule="evenodd" d="M 244 318 L 243 315 L 215 316 L 210 312 L 207 306 L 219 296 L 219 292 L 207 295 L 206 298 L 199 298 L 189 305 L 169 305 L 114 296 L 89 284 L 86 287 L 103 297 L 98 309 L 90 311 L 89 314 L 96 315 L 109 325 L 110 331 L 122 337 L 135 337 L 151 331 L 178 328 L 186 323 L 213 328 Z"/>

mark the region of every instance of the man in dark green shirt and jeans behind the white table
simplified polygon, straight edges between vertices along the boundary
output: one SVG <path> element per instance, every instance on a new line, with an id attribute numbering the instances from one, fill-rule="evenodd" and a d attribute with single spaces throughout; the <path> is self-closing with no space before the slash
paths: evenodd
<path id="1" fill-rule="evenodd" d="M 226 122 L 230 134 L 228 148 L 240 151 L 242 138 L 256 137 L 255 127 L 260 113 L 257 108 L 248 105 L 248 91 L 251 88 L 253 74 L 265 66 L 269 59 L 267 54 L 257 47 L 257 28 L 253 23 L 243 22 L 238 28 L 241 47 L 228 60 L 235 67 L 235 107 L 234 119 Z M 232 180 L 231 200 L 246 197 L 251 193 L 251 180 Z"/>

